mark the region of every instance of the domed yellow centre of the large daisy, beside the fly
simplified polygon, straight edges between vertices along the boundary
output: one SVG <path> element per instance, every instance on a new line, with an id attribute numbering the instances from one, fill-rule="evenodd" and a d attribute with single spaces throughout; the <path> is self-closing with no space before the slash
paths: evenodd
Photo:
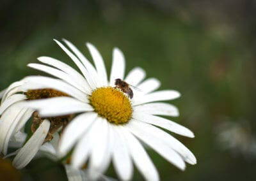
<path id="1" fill-rule="evenodd" d="M 132 117 L 132 105 L 124 92 L 113 87 L 100 87 L 92 92 L 90 103 L 95 112 L 113 124 L 124 124 Z"/>

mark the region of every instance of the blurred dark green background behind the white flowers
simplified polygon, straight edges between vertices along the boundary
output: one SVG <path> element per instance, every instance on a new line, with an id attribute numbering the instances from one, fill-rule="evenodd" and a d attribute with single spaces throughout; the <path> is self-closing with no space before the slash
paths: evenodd
<path id="1" fill-rule="evenodd" d="M 141 66 L 161 89 L 182 97 L 173 104 L 195 139 L 177 136 L 198 159 L 180 171 L 152 150 L 161 180 L 255 180 L 254 0 L 97 0 L 0 2 L 0 89 L 27 75 L 49 55 L 74 66 L 52 41 L 66 38 L 90 58 L 93 43 L 111 67 L 113 47 L 127 70 Z M 1 166 L 3 170 L 3 166 Z M 37 159 L 19 171 L 22 180 L 67 180 L 60 163 Z M 108 176 L 116 178 L 113 168 Z M 142 180 L 135 171 L 133 180 Z"/>

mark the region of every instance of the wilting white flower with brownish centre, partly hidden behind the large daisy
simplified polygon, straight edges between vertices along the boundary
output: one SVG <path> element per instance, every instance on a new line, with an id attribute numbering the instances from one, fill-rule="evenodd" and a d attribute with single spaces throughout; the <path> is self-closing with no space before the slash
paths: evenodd
<path id="1" fill-rule="evenodd" d="M 46 141 L 51 141 L 52 134 L 63 126 L 56 122 L 67 123 L 70 115 L 66 117 L 38 117 L 35 110 L 24 105 L 26 100 L 44 99 L 56 96 L 67 96 L 67 94 L 52 89 L 36 89 L 33 83 L 26 81 L 26 78 L 19 82 L 12 83 L 8 89 L 1 92 L 0 106 L 0 152 L 7 154 L 10 140 L 21 139 L 20 131 L 24 129 L 26 122 L 32 117 L 33 124 L 31 130 L 33 132 L 31 138 L 22 146 L 22 142 L 15 140 L 14 143 L 20 145 L 17 150 L 17 156 L 13 160 L 13 165 L 20 169 L 24 168 L 31 159 L 36 155 L 39 148 Z M 37 87 L 38 88 L 38 87 Z M 19 135 L 19 136 L 17 136 Z M 12 141 L 13 142 L 13 141 Z"/>

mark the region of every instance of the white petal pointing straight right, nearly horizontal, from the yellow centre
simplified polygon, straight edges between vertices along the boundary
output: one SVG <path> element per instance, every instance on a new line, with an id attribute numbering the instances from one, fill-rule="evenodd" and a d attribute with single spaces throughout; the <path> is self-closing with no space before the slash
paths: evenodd
<path id="1" fill-rule="evenodd" d="M 179 116 L 177 107 L 168 103 L 148 103 L 145 105 L 134 106 L 134 112 L 143 112 L 152 115 L 166 115 L 172 117 Z"/>

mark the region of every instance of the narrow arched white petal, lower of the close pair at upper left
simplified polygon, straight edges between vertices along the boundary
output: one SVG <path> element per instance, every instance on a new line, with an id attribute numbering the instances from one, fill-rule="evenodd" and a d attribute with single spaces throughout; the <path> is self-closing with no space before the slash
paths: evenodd
<path id="1" fill-rule="evenodd" d="M 44 71 L 45 73 L 49 73 L 50 75 L 56 76 L 57 78 L 64 80 L 65 82 L 69 83 L 70 85 L 73 85 L 80 91 L 82 91 L 86 94 L 90 94 L 90 92 L 88 90 L 84 89 L 84 87 L 81 87 L 81 85 L 79 85 L 79 83 L 77 83 L 76 79 L 74 79 L 72 76 L 68 75 L 67 73 L 65 73 L 63 71 L 60 71 L 56 68 L 51 68 L 49 66 L 45 66 L 42 64 L 28 64 L 28 66 L 30 68 L 38 69 L 40 71 Z"/>

